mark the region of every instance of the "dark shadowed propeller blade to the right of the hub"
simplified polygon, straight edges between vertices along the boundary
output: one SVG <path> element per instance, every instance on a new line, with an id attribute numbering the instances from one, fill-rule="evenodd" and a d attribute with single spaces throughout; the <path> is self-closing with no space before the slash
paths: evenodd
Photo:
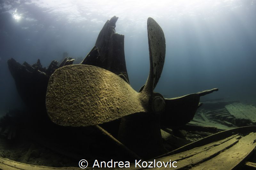
<path id="1" fill-rule="evenodd" d="M 218 91 L 218 88 L 192 93 L 172 99 L 165 99 L 165 111 L 161 115 L 161 125 L 179 127 L 190 122 L 199 105 L 200 96 Z"/>

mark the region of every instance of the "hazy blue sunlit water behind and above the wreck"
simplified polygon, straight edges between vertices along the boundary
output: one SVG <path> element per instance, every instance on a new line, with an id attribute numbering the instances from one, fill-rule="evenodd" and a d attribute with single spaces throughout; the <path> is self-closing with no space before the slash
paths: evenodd
<path id="1" fill-rule="evenodd" d="M 166 39 L 155 91 L 171 98 L 218 87 L 203 99 L 256 100 L 256 1 L 0 1 L 0 113 L 22 107 L 7 60 L 48 66 L 63 52 L 84 57 L 116 15 L 135 90 L 149 71 L 147 18 Z"/>

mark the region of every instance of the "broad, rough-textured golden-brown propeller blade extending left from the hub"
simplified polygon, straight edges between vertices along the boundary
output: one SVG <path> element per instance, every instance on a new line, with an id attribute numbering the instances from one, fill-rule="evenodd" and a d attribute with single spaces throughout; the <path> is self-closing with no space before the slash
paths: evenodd
<path id="1" fill-rule="evenodd" d="M 89 126 L 144 112 L 139 93 L 116 74 L 90 65 L 68 65 L 51 76 L 47 113 L 63 126 Z"/>

